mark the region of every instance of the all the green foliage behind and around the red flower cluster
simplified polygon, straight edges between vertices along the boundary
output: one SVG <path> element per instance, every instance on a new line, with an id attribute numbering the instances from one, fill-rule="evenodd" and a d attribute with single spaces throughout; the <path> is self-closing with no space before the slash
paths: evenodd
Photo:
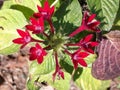
<path id="1" fill-rule="evenodd" d="M 0 10 L 0 54 L 10 54 L 18 51 L 19 45 L 13 44 L 12 42 L 13 39 L 19 37 L 16 29 L 25 29 L 25 25 L 28 24 L 29 18 L 34 12 L 37 12 L 37 5 L 43 6 L 43 1 L 44 0 L 6 0 L 4 2 Z M 53 3 L 56 4 L 56 10 L 52 20 L 58 34 L 61 32 L 62 36 L 69 35 L 83 23 L 82 17 L 84 16 L 82 15 L 82 9 L 78 0 L 55 0 L 57 3 L 54 2 L 54 0 L 48 1 L 50 1 L 51 5 L 53 5 Z M 117 27 L 120 27 L 119 2 L 120 0 L 87 0 L 91 14 L 95 13 L 96 19 L 101 22 L 99 28 L 103 33 L 110 31 L 111 28 L 116 29 Z M 49 26 L 46 22 L 45 25 L 47 25 L 45 31 L 48 32 Z M 88 32 L 83 31 L 73 39 L 65 42 L 77 42 L 80 38 L 83 38 L 83 36 L 86 35 L 88 35 Z M 64 39 L 62 36 L 60 37 L 60 40 Z M 44 39 L 45 37 L 38 35 L 38 37 L 34 38 Z M 72 49 L 71 52 L 74 52 L 76 48 L 71 47 L 69 49 Z M 28 90 L 38 89 L 34 84 L 38 77 L 38 82 L 47 81 L 57 90 L 69 89 L 69 82 L 71 80 L 71 75 L 73 75 L 75 65 L 71 62 L 72 60 L 69 55 L 59 52 L 58 56 L 60 56 L 60 58 L 58 59 L 65 72 L 65 79 L 55 80 L 53 83 L 52 74 L 54 73 L 55 60 L 53 59 L 54 55 L 52 52 L 52 50 L 48 52 L 42 64 L 38 64 L 36 61 L 29 63 L 29 78 L 27 82 Z M 96 54 L 90 54 L 85 58 L 88 67 L 91 68 L 96 57 Z M 93 78 L 90 73 L 90 68 L 83 68 L 78 65 L 78 68 L 73 75 L 75 83 L 83 90 L 105 90 L 107 88 L 106 84 L 109 85 L 109 81 L 100 81 Z"/>

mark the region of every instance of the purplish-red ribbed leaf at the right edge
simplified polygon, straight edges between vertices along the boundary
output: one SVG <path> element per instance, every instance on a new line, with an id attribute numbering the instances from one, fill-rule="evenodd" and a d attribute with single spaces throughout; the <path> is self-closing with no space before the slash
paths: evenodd
<path id="1" fill-rule="evenodd" d="M 112 31 L 106 37 L 98 45 L 98 58 L 92 65 L 92 75 L 100 80 L 120 76 L 120 31 Z"/>

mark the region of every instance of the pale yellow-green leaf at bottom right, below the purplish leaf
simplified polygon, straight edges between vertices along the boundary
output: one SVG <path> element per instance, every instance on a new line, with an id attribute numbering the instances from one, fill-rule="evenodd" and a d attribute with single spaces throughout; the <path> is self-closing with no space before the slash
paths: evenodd
<path id="1" fill-rule="evenodd" d="M 81 90 L 107 90 L 109 81 L 100 81 L 92 77 L 91 69 L 85 68 L 82 75 L 77 79 L 76 84 Z"/>

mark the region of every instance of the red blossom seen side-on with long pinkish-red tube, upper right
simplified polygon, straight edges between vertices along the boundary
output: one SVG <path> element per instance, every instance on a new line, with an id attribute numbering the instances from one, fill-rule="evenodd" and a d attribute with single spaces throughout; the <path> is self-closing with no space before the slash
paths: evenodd
<path id="1" fill-rule="evenodd" d="M 76 34 L 80 33 L 81 31 L 84 30 L 91 30 L 95 32 L 100 32 L 100 29 L 98 29 L 98 25 L 100 24 L 100 21 L 95 20 L 96 14 L 92 14 L 89 16 L 88 12 L 84 13 L 84 17 L 82 19 L 82 24 L 81 26 L 73 31 L 69 36 L 73 37 Z"/>

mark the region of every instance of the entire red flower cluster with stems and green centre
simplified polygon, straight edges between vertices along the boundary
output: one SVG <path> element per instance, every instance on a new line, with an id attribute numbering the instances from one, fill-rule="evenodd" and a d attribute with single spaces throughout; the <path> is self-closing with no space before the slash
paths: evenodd
<path id="1" fill-rule="evenodd" d="M 91 16 L 89 16 L 88 12 L 85 12 L 84 17 L 82 19 L 82 25 L 77 30 L 73 31 L 68 36 L 69 38 L 65 39 L 63 38 L 63 36 L 56 36 L 57 32 L 55 32 L 55 28 L 52 24 L 54 6 L 50 7 L 48 1 L 46 0 L 46 2 L 44 3 L 44 7 L 37 6 L 37 8 L 38 12 L 34 13 L 34 17 L 30 18 L 29 24 L 25 25 L 25 31 L 19 29 L 17 30 L 18 34 L 21 37 L 14 39 L 13 42 L 16 44 L 21 44 L 21 48 L 25 47 L 28 43 L 36 42 L 35 46 L 31 47 L 29 50 L 29 59 L 30 61 L 37 59 L 37 62 L 39 64 L 43 62 L 44 57 L 47 55 L 47 51 L 52 49 L 56 62 L 56 69 L 53 73 L 53 80 L 55 80 L 56 75 L 64 79 L 64 73 L 58 60 L 58 53 L 60 50 L 71 57 L 75 69 L 78 68 L 78 65 L 87 67 L 87 63 L 85 62 L 84 58 L 87 57 L 90 53 L 93 54 L 93 48 L 98 45 L 98 42 L 92 41 L 93 35 L 87 35 L 77 43 L 68 43 L 66 41 L 70 41 L 71 37 L 75 36 L 83 30 L 92 30 L 95 32 L 100 32 L 100 30 L 97 27 L 100 24 L 100 22 L 94 19 L 96 15 L 92 14 Z M 49 34 L 47 34 L 44 30 L 45 21 L 47 21 L 50 25 L 50 32 L 47 32 Z M 45 35 L 45 37 L 47 38 L 45 40 L 47 41 L 34 39 L 31 36 L 31 34 Z M 44 44 L 45 47 L 43 48 L 39 43 Z M 66 47 L 63 48 L 63 45 L 65 45 Z M 70 46 L 77 47 L 77 50 L 71 53 L 68 50 L 68 47 Z"/>

